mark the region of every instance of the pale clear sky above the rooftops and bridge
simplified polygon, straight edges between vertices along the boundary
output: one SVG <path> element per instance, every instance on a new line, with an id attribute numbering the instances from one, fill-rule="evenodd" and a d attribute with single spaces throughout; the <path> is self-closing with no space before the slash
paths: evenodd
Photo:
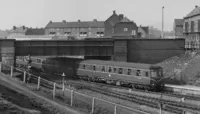
<path id="1" fill-rule="evenodd" d="M 175 18 L 183 18 L 200 0 L 0 0 L 0 29 L 13 26 L 45 27 L 51 21 L 105 21 L 113 13 L 124 14 L 138 26 L 172 30 Z"/>

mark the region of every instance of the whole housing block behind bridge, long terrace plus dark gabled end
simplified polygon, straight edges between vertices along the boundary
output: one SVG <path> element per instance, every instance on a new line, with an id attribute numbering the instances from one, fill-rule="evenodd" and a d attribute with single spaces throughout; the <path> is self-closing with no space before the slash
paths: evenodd
<path id="1" fill-rule="evenodd" d="M 135 22 L 124 17 L 123 14 L 117 15 L 115 11 L 106 21 L 76 21 L 61 22 L 50 21 L 45 27 L 45 34 L 52 36 L 83 38 L 99 38 L 112 36 L 131 36 L 136 37 L 138 27 Z"/>

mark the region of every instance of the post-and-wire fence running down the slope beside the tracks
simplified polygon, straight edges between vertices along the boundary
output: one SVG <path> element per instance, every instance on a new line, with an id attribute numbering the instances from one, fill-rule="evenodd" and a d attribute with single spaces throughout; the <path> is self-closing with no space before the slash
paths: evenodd
<path id="1" fill-rule="evenodd" d="M 133 109 L 127 106 L 109 102 L 97 97 L 92 97 L 73 89 L 69 89 L 61 84 L 48 81 L 35 76 L 19 68 L 0 64 L 0 71 L 19 79 L 23 83 L 28 83 L 35 87 L 36 90 L 49 90 L 49 95 L 54 100 L 61 100 L 64 103 L 79 108 L 92 114 L 150 114 L 145 111 Z"/>

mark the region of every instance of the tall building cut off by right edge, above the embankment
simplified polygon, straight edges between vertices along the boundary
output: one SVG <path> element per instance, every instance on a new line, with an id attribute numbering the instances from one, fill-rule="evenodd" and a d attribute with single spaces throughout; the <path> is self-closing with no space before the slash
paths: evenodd
<path id="1" fill-rule="evenodd" d="M 200 7 L 195 8 L 184 17 L 183 34 L 186 38 L 186 48 L 199 49 L 200 45 Z"/>

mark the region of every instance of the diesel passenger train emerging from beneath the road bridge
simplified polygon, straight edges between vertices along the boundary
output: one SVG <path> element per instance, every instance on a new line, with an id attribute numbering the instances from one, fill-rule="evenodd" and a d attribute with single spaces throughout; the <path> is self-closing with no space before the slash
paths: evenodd
<path id="1" fill-rule="evenodd" d="M 19 59 L 17 59 L 19 61 Z M 56 60 L 32 60 L 32 66 L 41 65 L 42 71 L 62 74 L 73 71 L 79 79 L 125 85 L 134 88 L 157 90 L 164 87 L 162 67 L 151 64 L 127 63 L 104 60 L 73 60 L 67 67 Z"/>

